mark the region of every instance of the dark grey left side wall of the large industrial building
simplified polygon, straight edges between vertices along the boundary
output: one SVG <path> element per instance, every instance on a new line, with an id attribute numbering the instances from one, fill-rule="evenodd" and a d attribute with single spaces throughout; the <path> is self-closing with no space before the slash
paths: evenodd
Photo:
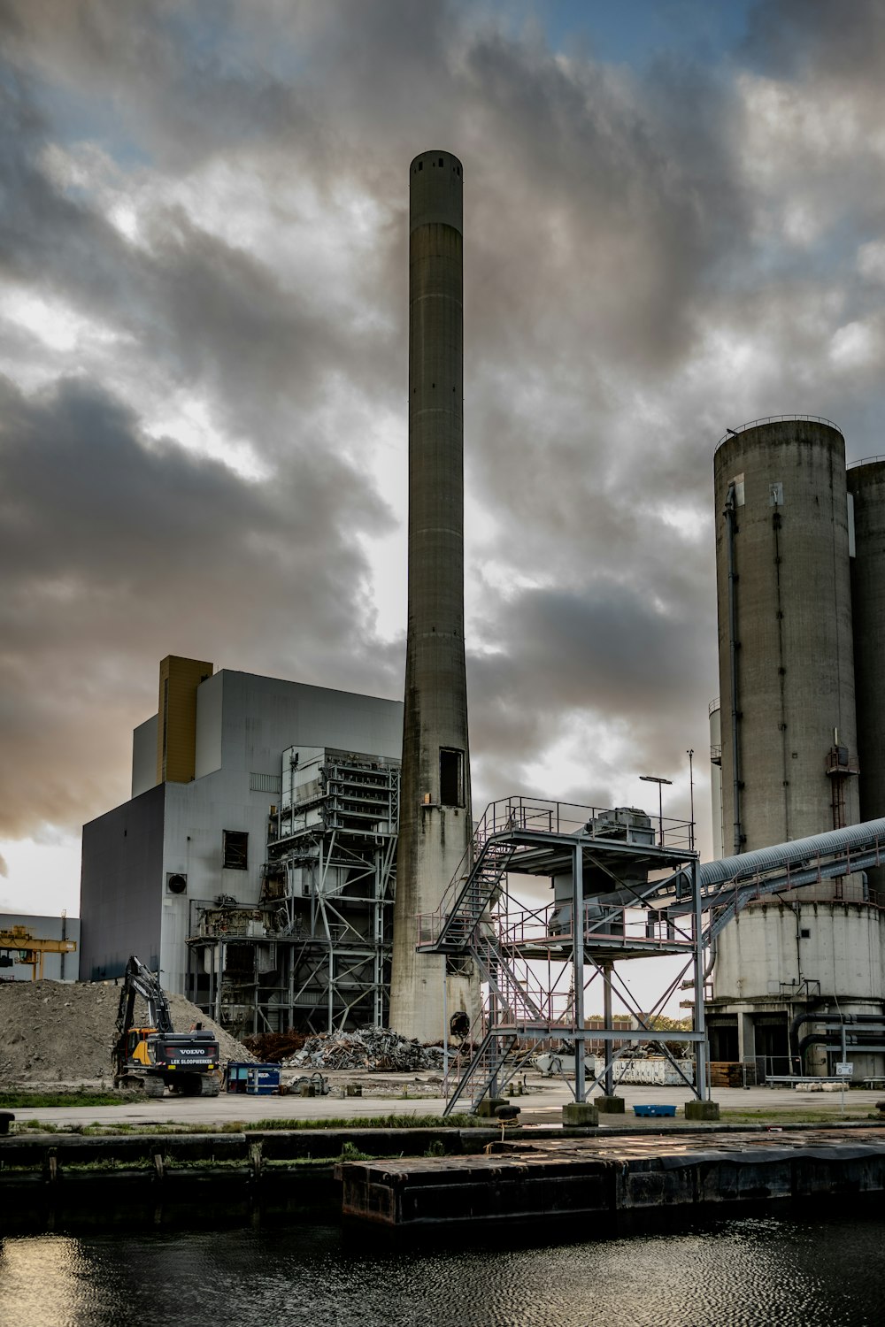
<path id="1" fill-rule="evenodd" d="M 80 979 L 159 965 L 165 784 L 84 825 Z"/>

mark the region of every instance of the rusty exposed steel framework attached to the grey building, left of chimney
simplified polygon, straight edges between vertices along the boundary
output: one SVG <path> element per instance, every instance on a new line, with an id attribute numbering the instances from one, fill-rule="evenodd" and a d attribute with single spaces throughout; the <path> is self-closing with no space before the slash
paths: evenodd
<path id="1" fill-rule="evenodd" d="M 387 1020 L 399 764 L 324 751 L 314 767 L 272 808 L 259 908 L 216 900 L 191 926 L 196 1003 L 239 1035 Z"/>

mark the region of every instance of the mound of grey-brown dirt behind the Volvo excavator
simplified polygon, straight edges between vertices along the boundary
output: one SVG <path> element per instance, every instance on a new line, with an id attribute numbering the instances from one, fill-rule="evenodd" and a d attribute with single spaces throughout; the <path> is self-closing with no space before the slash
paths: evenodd
<path id="1" fill-rule="evenodd" d="M 224 1060 L 253 1060 L 183 995 L 169 997 L 172 1024 L 186 1032 L 199 1020 L 218 1036 Z M 119 987 L 100 982 L 0 983 L 0 1083 L 90 1083 L 111 1078 Z M 141 1001 L 138 1020 L 146 1020 Z"/>

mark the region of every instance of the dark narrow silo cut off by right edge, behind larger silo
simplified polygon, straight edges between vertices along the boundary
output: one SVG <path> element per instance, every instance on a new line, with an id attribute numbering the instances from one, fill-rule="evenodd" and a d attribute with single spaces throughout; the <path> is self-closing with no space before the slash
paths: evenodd
<path id="1" fill-rule="evenodd" d="M 852 614 L 860 815 L 885 816 L 885 458 L 848 470 L 854 515 Z"/>

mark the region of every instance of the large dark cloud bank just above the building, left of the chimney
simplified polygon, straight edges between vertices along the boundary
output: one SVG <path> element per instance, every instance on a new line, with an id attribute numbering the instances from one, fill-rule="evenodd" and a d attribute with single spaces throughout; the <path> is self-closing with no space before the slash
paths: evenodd
<path id="1" fill-rule="evenodd" d="M 365 565 L 333 518 L 358 529 L 382 514 L 333 459 L 244 482 L 146 445 L 84 382 L 27 399 L 4 381 L 0 418 L 1 832 L 106 805 L 163 654 L 257 671 L 269 636 L 321 682 L 330 653 L 358 652 Z"/>

